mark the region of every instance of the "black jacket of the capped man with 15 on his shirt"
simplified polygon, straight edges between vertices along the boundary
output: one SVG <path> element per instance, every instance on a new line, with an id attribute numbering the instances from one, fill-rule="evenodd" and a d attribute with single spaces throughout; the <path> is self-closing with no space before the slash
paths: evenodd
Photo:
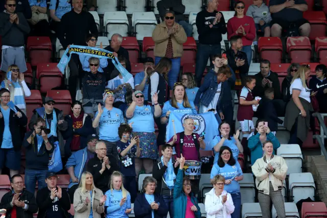
<path id="1" fill-rule="evenodd" d="M 51 207 L 54 200 L 50 198 L 50 195 L 51 191 L 49 190 L 48 186 L 37 191 L 36 202 L 39 206 L 37 218 L 44 218 L 46 215 L 46 209 Z M 69 218 L 70 215 L 68 214 L 68 210 L 71 209 L 71 201 L 69 200 L 69 195 L 64 188 L 61 189 L 61 199 L 59 199 L 59 206 L 59 209 L 62 211 L 62 217 Z"/>

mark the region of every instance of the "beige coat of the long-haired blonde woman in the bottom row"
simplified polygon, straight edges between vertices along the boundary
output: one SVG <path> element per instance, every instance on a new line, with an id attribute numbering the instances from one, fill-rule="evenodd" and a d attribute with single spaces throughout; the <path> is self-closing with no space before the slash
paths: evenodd
<path id="1" fill-rule="evenodd" d="M 82 193 L 81 188 L 76 189 L 74 193 L 74 210 L 75 218 L 88 218 L 91 212 L 91 204 L 85 206 L 83 202 L 88 199 L 91 199 L 90 192 L 86 191 L 85 194 Z M 94 218 L 101 218 L 101 213 L 104 212 L 104 203 L 102 206 L 100 204 L 100 198 L 102 197 L 103 192 L 99 188 L 95 188 L 92 191 L 92 210 Z"/>

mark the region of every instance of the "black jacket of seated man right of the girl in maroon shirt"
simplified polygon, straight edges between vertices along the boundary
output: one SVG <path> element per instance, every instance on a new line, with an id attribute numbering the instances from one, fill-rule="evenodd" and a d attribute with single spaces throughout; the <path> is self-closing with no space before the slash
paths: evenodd
<path id="1" fill-rule="evenodd" d="M 265 96 L 265 90 L 268 88 L 268 84 L 265 87 L 262 86 L 263 75 L 259 72 L 254 75 L 255 86 L 253 88 L 253 96 L 259 96 L 263 98 Z M 275 72 L 270 71 L 270 75 L 266 77 L 272 81 L 272 88 L 274 89 L 274 99 L 281 99 L 281 85 L 279 84 L 278 75 Z"/>

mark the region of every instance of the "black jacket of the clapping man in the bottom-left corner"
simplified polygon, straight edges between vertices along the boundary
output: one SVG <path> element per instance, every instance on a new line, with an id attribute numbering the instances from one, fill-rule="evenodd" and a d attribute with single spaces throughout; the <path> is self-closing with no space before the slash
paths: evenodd
<path id="1" fill-rule="evenodd" d="M 10 205 L 13 198 L 13 192 L 9 191 L 2 197 L 1 203 L 0 203 L 0 209 L 6 209 L 6 218 L 11 218 L 11 211 L 12 206 Z M 21 207 L 16 208 L 16 217 L 17 218 L 33 218 L 33 213 L 36 213 L 39 209 L 36 200 L 34 197 L 34 193 L 28 192 L 27 190 L 23 190 L 21 194 L 19 195 L 19 201 L 24 201 L 28 208 L 27 210 L 24 210 Z"/>

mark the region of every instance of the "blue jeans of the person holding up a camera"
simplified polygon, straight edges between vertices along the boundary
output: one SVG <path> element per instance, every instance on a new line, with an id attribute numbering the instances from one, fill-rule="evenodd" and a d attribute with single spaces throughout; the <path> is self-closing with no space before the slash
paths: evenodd
<path id="1" fill-rule="evenodd" d="M 38 190 L 46 187 L 45 175 L 48 169 L 26 169 L 25 170 L 25 186 L 26 190 L 34 194 L 36 181 Z"/>

